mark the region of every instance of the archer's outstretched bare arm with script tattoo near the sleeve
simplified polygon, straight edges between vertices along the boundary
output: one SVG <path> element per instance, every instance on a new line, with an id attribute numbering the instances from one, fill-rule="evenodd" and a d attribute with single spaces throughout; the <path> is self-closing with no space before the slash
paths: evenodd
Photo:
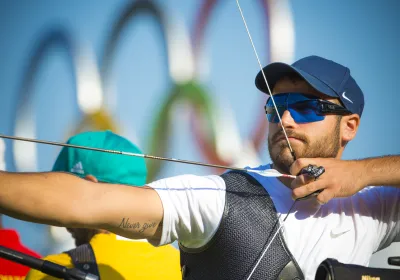
<path id="1" fill-rule="evenodd" d="M 30 222 L 157 240 L 163 206 L 147 187 L 93 183 L 60 172 L 0 171 L 0 212 Z"/>

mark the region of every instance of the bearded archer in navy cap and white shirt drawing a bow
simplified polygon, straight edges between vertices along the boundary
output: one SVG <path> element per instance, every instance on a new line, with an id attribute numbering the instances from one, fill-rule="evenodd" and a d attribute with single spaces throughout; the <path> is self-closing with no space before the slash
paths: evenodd
<path id="1" fill-rule="evenodd" d="M 263 72 L 272 89 L 265 105 L 272 164 L 253 170 L 298 175 L 312 164 L 325 168 L 318 179 L 231 171 L 135 188 L 66 173 L 1 172 L 1 212 L 146 238 L 155 246 L 178 240 L 184 279 L 276 279 L 283 273 L 314 279 L 326 258 L 367 265 L 375 251 L 400 240 L 400 157 L 340 159 L 364 108 L 347 67 L 310 56 L 292 65 L 270 64 Z M 256 85 L 270 93 L 262 72 Z M 292 196 L 316 191 L 290 211 Z M 289 214 L 284 232 L 274 227 L 277 214 Z M 154 226 L 120 227 L 123 219 Z"/>

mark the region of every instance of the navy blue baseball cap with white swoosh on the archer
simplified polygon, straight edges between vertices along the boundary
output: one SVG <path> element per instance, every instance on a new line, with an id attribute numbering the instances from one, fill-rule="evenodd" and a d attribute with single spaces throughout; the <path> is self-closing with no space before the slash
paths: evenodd
<path id="1" fill-rule="evenodd" d="M 263 69 L 270 89 L 279 79 L 297 73 L 322 94 L 339 98 L 344 107 L 360 117 L 364 109 L 364 94 L 350 75 L 350 69 L 319 56 L 307 56 L 292 65 L 275 62 Z M 256 87 L 269 94 L 261 71 L 256 76 Z"/>

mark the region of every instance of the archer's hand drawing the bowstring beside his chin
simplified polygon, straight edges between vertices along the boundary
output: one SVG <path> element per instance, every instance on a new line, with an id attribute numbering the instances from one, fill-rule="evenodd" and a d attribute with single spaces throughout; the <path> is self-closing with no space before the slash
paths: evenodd
<path id="1" fill-rule="evenodd" d="M 335 197 L 348 197 L 367 186 L 365 165 L 362 161 L 345 161 L 332 158 L 298 159 L 290 167 L 290 173 L 297 175 L 308 165 L 323 166 L 325 173 L 318 179 L 308 175 L 299 175 L 292 182 L 293 199 L 307 196 L 317 190 L 321 204 Z"/>

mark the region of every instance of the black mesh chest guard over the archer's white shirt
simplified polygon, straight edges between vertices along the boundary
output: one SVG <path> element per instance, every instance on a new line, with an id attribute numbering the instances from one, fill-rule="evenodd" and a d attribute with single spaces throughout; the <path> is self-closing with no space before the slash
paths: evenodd
<path id="1" fill-rule="evenodd" d="M 225 210 L 218 231 L 204 247 L 180 245 L 182 279 L 247 279 L 278 226 L 268 192 L 246 172 L 221 175 L 226 184 Z M 281 233 L 274 239 L 251 279 L 304 279 Z"/>

